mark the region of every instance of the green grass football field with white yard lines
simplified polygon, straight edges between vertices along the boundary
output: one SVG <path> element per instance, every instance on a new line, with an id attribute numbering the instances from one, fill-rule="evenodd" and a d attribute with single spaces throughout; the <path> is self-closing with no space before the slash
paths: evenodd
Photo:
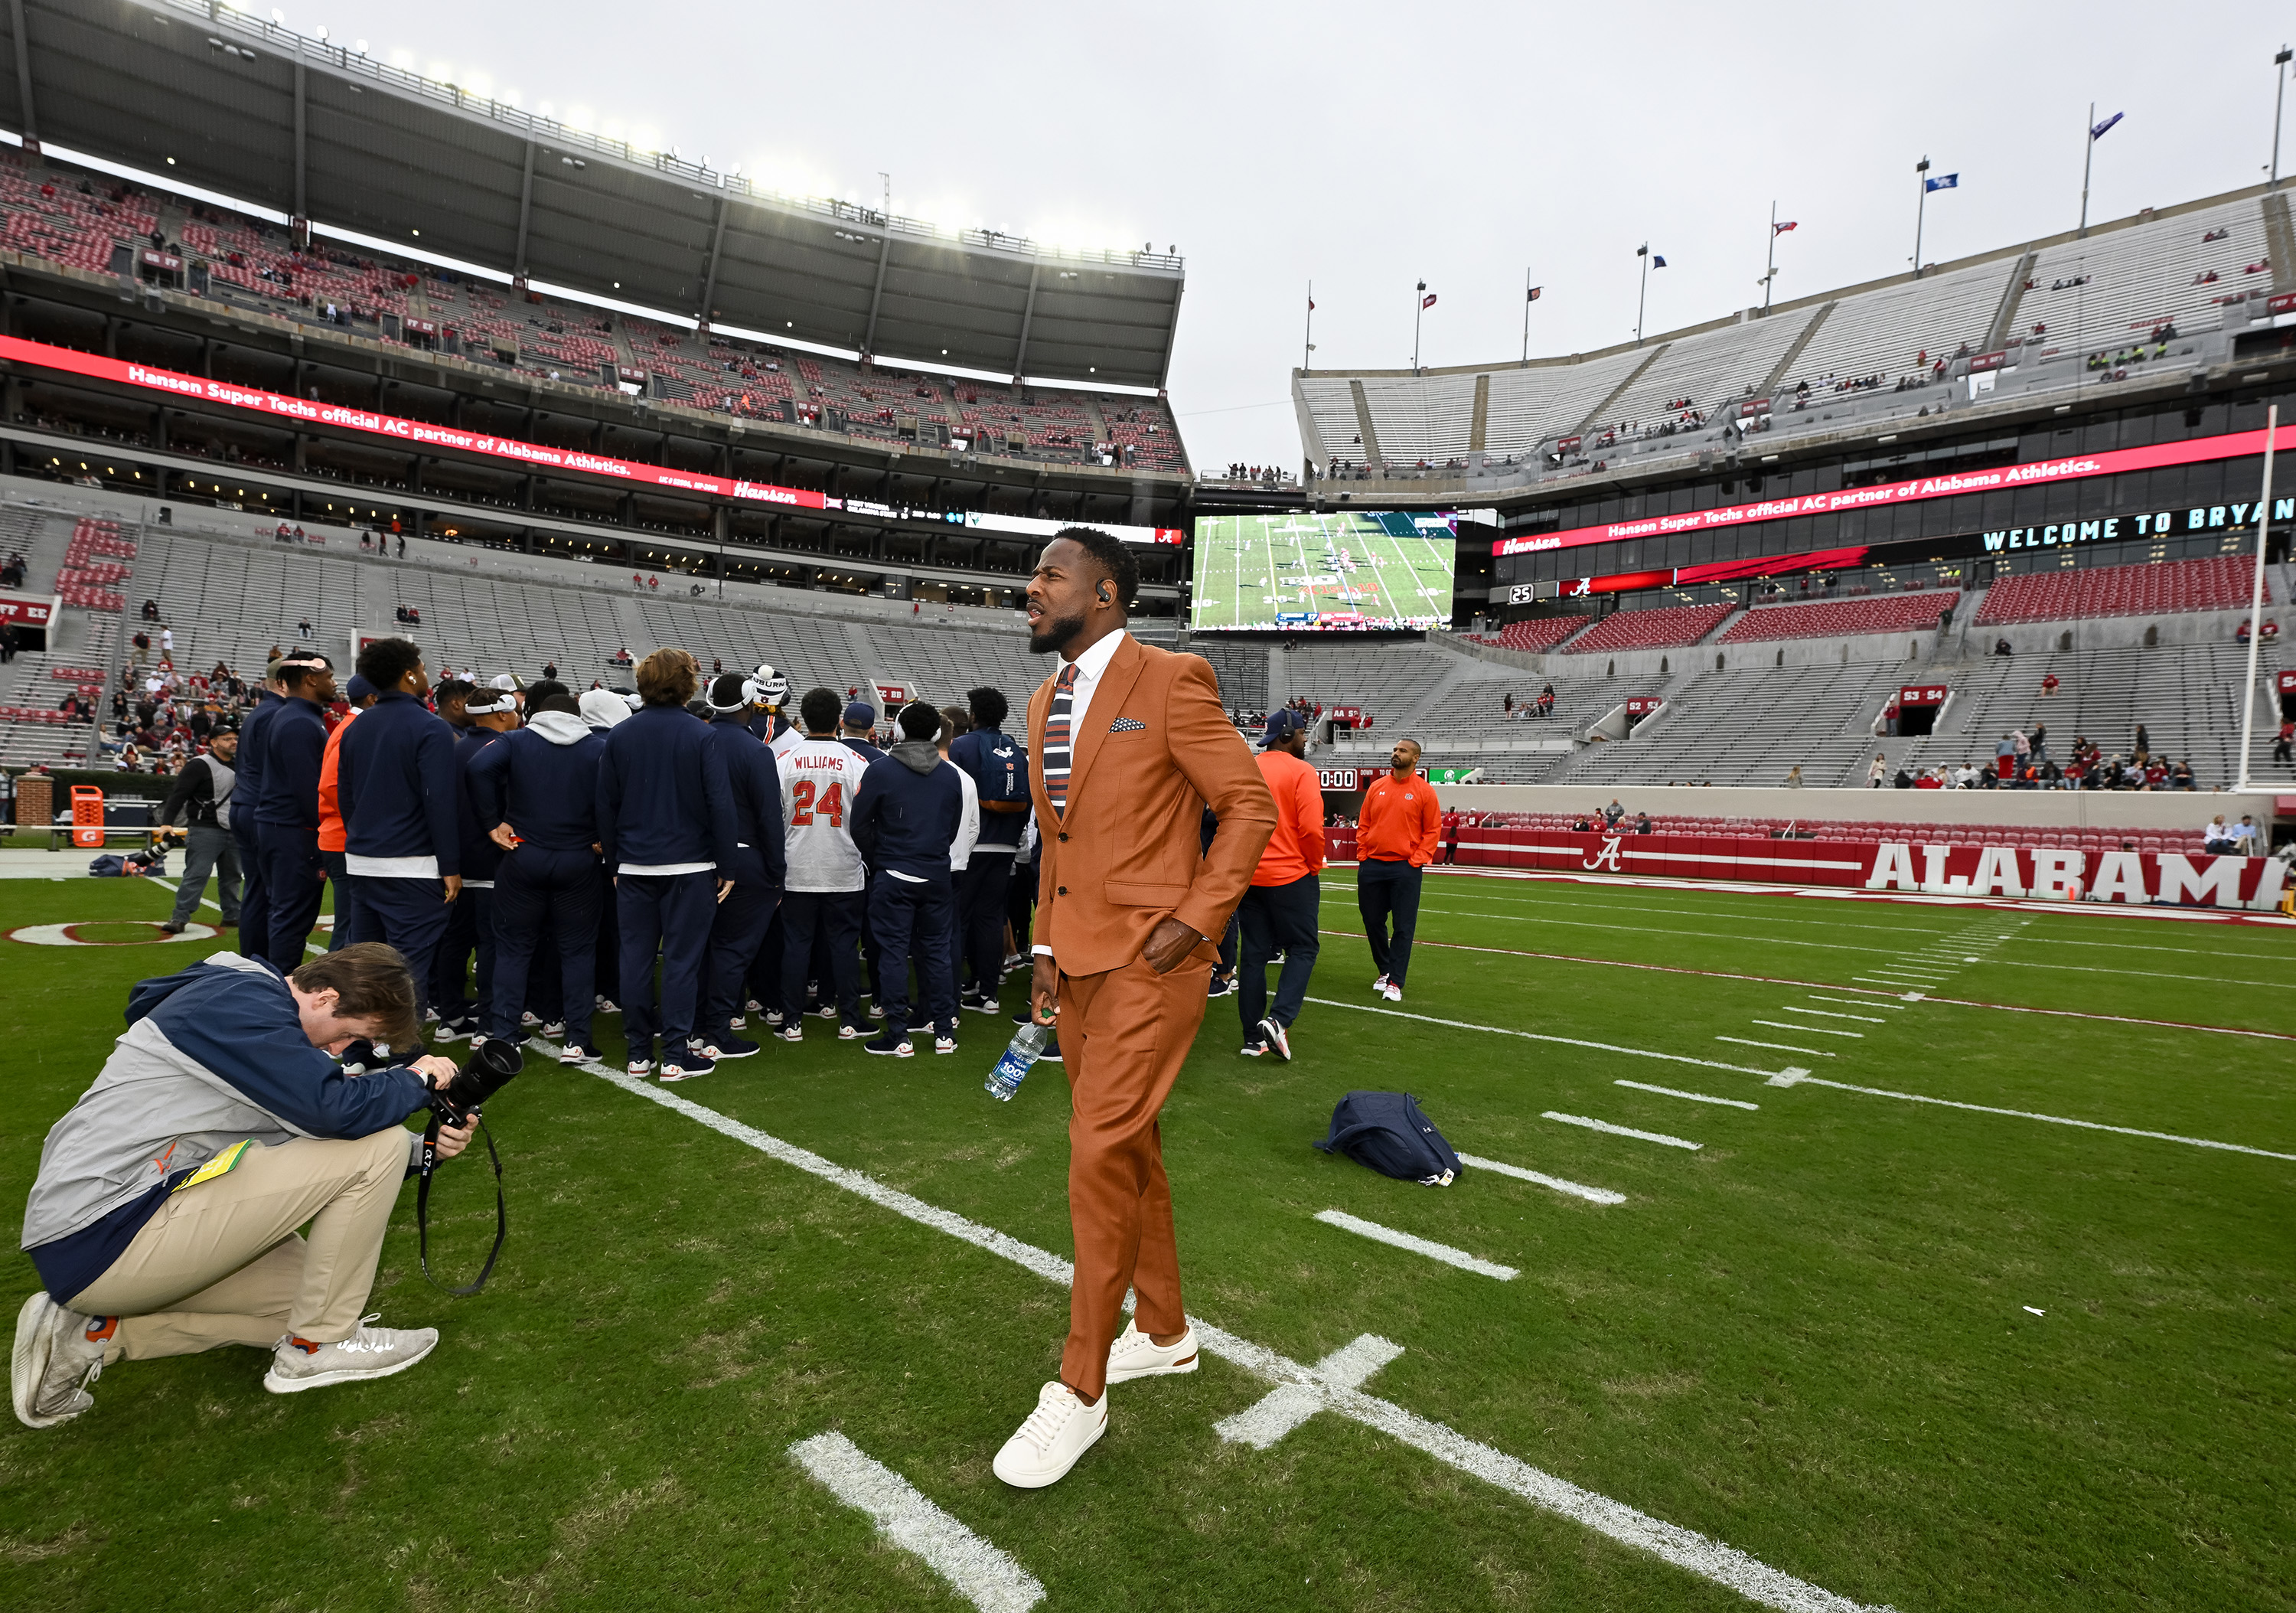
<path id="1" fill-rule="evenodd" d="M 11 880 L 0 928 L 133 942 L 165 905 Z M 416 1369 L 119 1363 L 9 1425 L 0 1599 L 2296 1606 L 2287 928 L 1456 875 L 1403 1004 L 1345 871 L 1322 928 L 1295 1062 L 1212 1002 L 1164 1110 L 1205 1365 L 1114 1388 L 1061 1484 L 990 1473 L 1068 1317 L 1058 1068 L 1003 1105 L 1001 1020 L 907 1062 L 815 1020 L 675 1089 L 533 1059 L 489 1110 L 491 1287 L 425 1287 L 400 1204 L 372 1307 L 443 1328 Z M 0 940 L 9 1202 L 129 983 L 214 944 Z M 1545 1181 L 1313 1151 L 1352 1087 Z M 482 1165 L 439 1197 L 461 1280 Z M 824 1434 L 985 1542 L 937 1558 L 976 1599 L 792 1459 Z"/>

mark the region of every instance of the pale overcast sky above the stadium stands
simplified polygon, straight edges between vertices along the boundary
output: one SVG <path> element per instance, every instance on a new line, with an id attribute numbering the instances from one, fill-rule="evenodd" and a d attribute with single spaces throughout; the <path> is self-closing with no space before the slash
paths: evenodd
<path id="1" fill-rule="evenodd" d="M 2156 5 L 1132 5 L 856 11 L 684 0 L 282 0 L 303 32 L 588 108 L 820 195 L 1077 246 L 1176 244 L 1171 402 L 1199 466 L 1297 466 L 1306 285 L 1318 368 L 1628 340 L 1646 329 L 2069 230 L 2087 106 L 2092 218 L 2264 177 L 2262 9 Z M 310 7 L 310 9 L 305 9 Z M 2170 44 L 2163 25 L 2174 37 Z M 2296 32 L 2296 21 L 2289 23 Z M 2296 122 L 2296 108 L 2291 108 Z M 2296 156 L 2296 131 L 2285 152 Z"/>

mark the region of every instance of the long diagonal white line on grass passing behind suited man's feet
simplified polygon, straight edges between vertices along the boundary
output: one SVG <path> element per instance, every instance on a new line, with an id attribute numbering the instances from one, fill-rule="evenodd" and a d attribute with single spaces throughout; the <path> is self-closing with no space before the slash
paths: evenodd
<path id="1" fill-rule="evenodd" d="M 1348 1004 L 1355 1006 L 1355 1004 Z M 1483 1029 L 1469 1025 L 1467 1029 Z M 535 1048 L 553 1048 L 553 1043 L 533 1041 Z M 1692 1059 L 1694 1062 L 1694 1059 Z M 783 1165 L 794 1165 L 808 1176 L 820 1176 L 833 1188 L 843 1188 L 856 1197 L 889 1209 L 905 1220 L 914 1220 L 921 1227 L 932 1227 L 934 1232 L 946 1232 L 953 1238 L 962 1238 L 978 1250 L 987 1250 L 1001 1259 L 1033 1271 L 1047 1282 L 1068 1287 L 1075 1271 L 1065 1259 L 1049 1250 L 1040 1250 L 1033 1243 L 1022 1243 L 1019 1238 L 996 1232 L 994 1227 L 983 1227 L 976 1220 L 967 1220 L 955 1211 L 944 1211 L 937 1204 L 925 1204 L 912 1193 L 900 1188 L 889 1188 L 875 1176 L 866 1176 L 845 1165 L 836 1165 L 813 1149 L 801 1149 L 794 1142 L 783 1142 L 781 1137 L 758 1130 L 755 1126 L 744 1126 L 742 1121 L 707 1110 L 691 1098 L 682 1098 L 675 1091 L 664 1091 L 650 1082 L 625 1075 L 622 1071 L 608 1068 L 604 1064 L 590 1062 L 581 1066 L 590 1075 L 620 1087 L 622 1091 L 636 1094 L 647 1103 L 659 1103 L 673 1114 L 684 1114 L 691 1121 L 707 1126 L 709 1130 L 732 1137 L 735 1142 L 758 1149 L 767 1158 L 781 1160 Z M 1768 1075 L 1768 1071 L 1750 1071 Z M 1782 1075 L 1807 1075 L 1809 1071 L 1786 1066 Z M 1242 1372 L 1265 1381 L 1265 1383 L 1313 1383 L 1316 1369 L 1302 1367 L 1297 1360 L 1267 1349 L 1265 1344 L 1254 1344 L 1247 1337 L 1238 1337 L 1226 1328 L 1217 1328 L 1210 1321 L 1192 1319 L 1196 1337 L 1203 1342 L 1205 1353 L 1226 1360 Z M 1435 1422 L 1433 1418 L 1421 1418 L 1403 1406 L 1380 1399 L 1375 1395 L 1364 1395 L 1362 1390 L 1327 1386 L 1329 1406 L 1350 1422 L 1362 1422 L 1368 1429 L 1380 1429 L 1403 1445 L 1433 1457 L 1446 1468 L 1456 1468 L 1469 1477 L 1479 1477 L 1495 1489 L 1504 1489 L 1508 1496 L 1531 1503 L 1557 1516 L 1566 1516 L 1573 1523 L 1596 1530 L 1616 1539 L 1621 1546 L 1632 1546 L 1637 1551 L 1649 1551 L 1662 1562 L 1697 1574 L 1699 1579 L 1711 1579 L 1717 1585 L 1736 1590 L 1750 1602 L 1759 1602 L 1766 1608 L 1777 1608 L 1777 1613 L 1892 1613 L 1887 1606 L 1874 1606 L 1864 1602 L 1851 1602 L 1839 1597 L 1823 1585 L 1812 1585 L 1807 1579 L 1795 1579 L 1782 1569 L 1770 1567 L 1761 1558 L 1752 1558 L 1736 1546 L 1720 1539 L 1699 1535 L 1692 1528 L 1678 1523 L 1667 1523 L 1665 1519 L 1653 1519 L 1646 1512 L 1637 1512 L 1623 1500 L 1612 1500 L 1609 1496 L 1582 1489 L 1566 1477 L 1557 1477 L 1545 1468 L 1534 1468 L 1529 1461 L 1508 1457 L 1504 1450 L 1492 1450 L 1479 1441 L 1467 1438 L 1458 1429 Z"/>

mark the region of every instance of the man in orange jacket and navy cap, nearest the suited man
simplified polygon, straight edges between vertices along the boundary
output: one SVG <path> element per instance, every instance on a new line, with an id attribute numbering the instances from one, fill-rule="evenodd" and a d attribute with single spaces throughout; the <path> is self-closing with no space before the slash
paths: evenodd
<path id="1" fill-rule="evenodd" d="M 1244 1057 L 1274 1052 L 1290 1062 L 1290 1027 L 1306 1002 L 1306 983 L 1316 972 L 1322 942 L 1316 921 L 1322 917 L 1322 781 L 1306 763 L 1309 719 L 1293 710 L 1267 719 L 1261 740 L 1261 777 L 1277 800 L 1277 832 L 1261 852 L 1261 866 L 1235 910 L 1244 933 L 1244 963 L 1238 981 L 1238 1011 L 1244 1018 Z M 1267 960 L 1283 954 L 1277 977 L 1277 1004 L 1267 1006 Z"/>

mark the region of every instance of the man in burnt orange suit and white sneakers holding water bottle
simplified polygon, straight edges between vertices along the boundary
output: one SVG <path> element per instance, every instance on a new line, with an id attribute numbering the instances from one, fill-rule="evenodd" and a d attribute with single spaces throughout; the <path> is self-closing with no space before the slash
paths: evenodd
<path id="1" fill-rule="evenodd" d="M 1196 1369 L 1157 1110 L 1196 1041 L 1217 937 L 1277 825 L 1212 669 L 1125 632 L 1139 565 L 1084 526 L 1045 545 L 1029 648 L 1058 669 L 1029 701 L 1038 908 L 1031 1004 L 1058 1011 L 1077 1268 L 1061 1376 L 996 1452 L 1040 1489 L 1109 1427 L 1109 1383 Z M 1219 816 L 1210 850 L 1203 809 Z M 1137 1317 L 1118 1335 L 1125 1289 Z"/>

